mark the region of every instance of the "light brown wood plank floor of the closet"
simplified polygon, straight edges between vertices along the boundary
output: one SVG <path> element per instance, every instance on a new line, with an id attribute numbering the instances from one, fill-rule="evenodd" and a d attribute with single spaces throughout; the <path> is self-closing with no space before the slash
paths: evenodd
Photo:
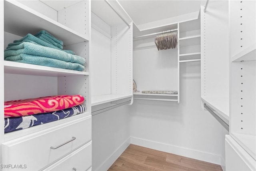
<path id="1" fill-rule="evenodd" d="M 108 171 L 222 171 L 220 165 L 130 144 Z"/>

